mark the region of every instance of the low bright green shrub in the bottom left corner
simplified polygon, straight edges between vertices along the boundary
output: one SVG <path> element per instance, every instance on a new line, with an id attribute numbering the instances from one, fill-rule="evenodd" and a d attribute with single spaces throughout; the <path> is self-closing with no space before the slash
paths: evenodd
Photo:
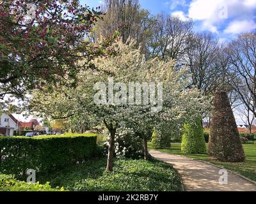
<path id="1" fill-rule="evenodd" d="M 15 179 L 13 175 L 0 174 L 0 191 L 65 191 L 61 189 L 54 189 L 49 185 L 49 182 L 42 185 L 39 182 L 36 184 L 27 183 Z"/>

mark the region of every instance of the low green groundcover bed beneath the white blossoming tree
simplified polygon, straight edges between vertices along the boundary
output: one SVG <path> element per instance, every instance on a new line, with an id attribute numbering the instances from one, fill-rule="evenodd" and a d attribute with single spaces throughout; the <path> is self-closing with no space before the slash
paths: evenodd
<path id="1" fill-rule="evenodd" d="M 113 173 L 107 172 L 105 166 L 105 158 L 95 159 L 48 177 L 38 175 L 36 179 L 70 191 L 182 191 L 177 172 L 170 164 L 156 159 L 115 159 Z"/>

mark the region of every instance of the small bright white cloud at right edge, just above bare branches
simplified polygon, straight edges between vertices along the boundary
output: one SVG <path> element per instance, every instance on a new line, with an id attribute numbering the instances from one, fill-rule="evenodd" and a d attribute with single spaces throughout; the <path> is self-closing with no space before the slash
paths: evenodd
<path id="1" fill-rule="evenodd" d="M 253 20 L 235 20 L 230 22 L 224 33 L 239 34 L 246 33 L 256 29 L 256 23 Z"/>

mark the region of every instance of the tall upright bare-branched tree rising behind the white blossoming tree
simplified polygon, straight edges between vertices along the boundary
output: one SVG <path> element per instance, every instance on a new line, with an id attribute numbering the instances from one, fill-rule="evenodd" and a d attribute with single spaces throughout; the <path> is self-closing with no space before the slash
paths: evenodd
<path id="1" fill-rule="evenodd" d="M 95 28 L 95 39 L 118 31 L 124 43 L 129 38 L 135 39 L 138 45 L 143 43 L 149 13 L 141 9 L 138 0 L 105 0 L 102 11 L 105 15 Z"/>

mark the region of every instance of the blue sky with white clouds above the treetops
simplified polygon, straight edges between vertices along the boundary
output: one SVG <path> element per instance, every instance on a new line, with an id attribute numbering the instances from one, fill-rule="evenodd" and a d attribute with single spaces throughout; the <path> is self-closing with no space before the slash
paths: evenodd
<path id="1" fill-rule="evenodd" d="M 96 7 L 102 1 L 81 3 Z M 195 31 L 212 31 L 221 41 L 256 29 L 256 0 L 140 0 L 140 4 L 153 14 L 164 11 L 182 20 L 192 18 Z"/>

